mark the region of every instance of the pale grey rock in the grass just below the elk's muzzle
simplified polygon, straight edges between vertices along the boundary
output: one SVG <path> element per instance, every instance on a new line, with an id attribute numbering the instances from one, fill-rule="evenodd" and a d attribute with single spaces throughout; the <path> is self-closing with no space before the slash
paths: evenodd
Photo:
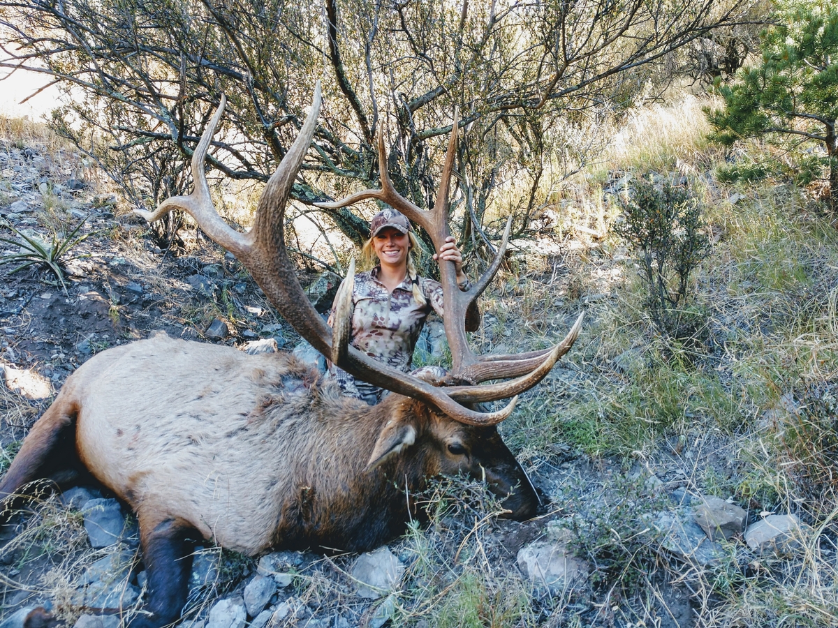
<path id="1" fill-rule="evenodd" d="M 587 584 L 590 568 L 567 549 L 566 540 L 536 541 L 518 550 L 521 573 L 538 589 L 559 593 Z"/>

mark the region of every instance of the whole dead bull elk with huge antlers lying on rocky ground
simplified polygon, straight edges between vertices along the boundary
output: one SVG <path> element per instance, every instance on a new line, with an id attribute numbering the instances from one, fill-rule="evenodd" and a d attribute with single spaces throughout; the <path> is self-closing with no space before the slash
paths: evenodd
<path id="1" fill-rule="evenodd" d="M 204 175 L 223 99 L 194 152 L 194 192 L 143 215 L 154 220 L 184 208 L 241 260 L 301 336 L 349 373 L 394 394 L 369 407 L 342 397 L 334 383 L 287 353 L 251 356 L 161 335 L 109 349 L 73 373 L 0 483 L 0 497 L 13 497 L 29 482 L 75 464 L 132 507 L 148 575 L 148 612 L 132 625 L 156 627 L 178 618 L 195 538 L 251 555 L 268 548 L 375 548 L 404 529 L 405 492 L 421 490 L 427 477 L 461 471 L 485 477 L 510 517 L 530 517 L 537 507 L 535 491 L 496 428 L 515 399 L 489 413 L 473 404 L 507 399 L 538 383 L 571 347 L 582 317 L 545 351 L 470 351 L 464 312 L 497 270 L 507 227 L 494 264 L 468 291 L 458 290 L 453 263 L 442 264 L 453 353 L 447 378 L 427 382 L 349 346 L 351 289 L 339 296 L 333 332 L 299 285 L 282 233 L 288 193 L 312 141 L 320 101 L 318 83 L 308 119 L 268 181 L 247 234 L 230 229 L 215 213 Z M 334 204 L 381 198 L 422 224 L 438 248 L 448 234 L 457 127 L 455 120 L 432 211 L 393 190 L 381 138 L 382 188 Z M 489 379 L 506 381 L 478 385 Z"/>

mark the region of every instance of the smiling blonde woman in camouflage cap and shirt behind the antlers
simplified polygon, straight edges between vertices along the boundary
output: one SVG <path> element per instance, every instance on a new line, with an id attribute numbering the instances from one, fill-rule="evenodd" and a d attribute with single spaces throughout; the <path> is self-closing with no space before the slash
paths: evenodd
<path id="1" fill-rule="evenodd" d="M 372 270 L 355 275 L 352 291 L 353 347 L 372 358 L 407 373 L 411 370 L 413 348 L 427 315 L 442 311 L 442 286 L 437 281 L 416 275 L 411 249 L 417 247 L 410 221 L 395 209 L 386 208 L 375 214 L 370 223 L 370 239 L 361 255 L 365 260 L 378 258 Z M 433 256 L 437 262 L 452 261 L 457 271 L 460 290 L 468 290 L 468 277 L 463 273 L 463 255 L 452 236 Z M 332 316 L 328 324 L 332 324 Z M 477 306 L 466 312 L 466 331 L 473 332 L 480 324 Z M 337 379 L 344 394 L 377 404 L 384 390 L 356 380 L 343 369 L 331 364 L 329 371 Z"/>

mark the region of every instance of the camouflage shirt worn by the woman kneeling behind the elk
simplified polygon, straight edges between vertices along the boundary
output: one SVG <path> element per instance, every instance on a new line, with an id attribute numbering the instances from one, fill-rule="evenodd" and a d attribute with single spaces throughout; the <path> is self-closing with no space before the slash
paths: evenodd
<path id="1" fill-rule="evenodd" d="M 413 360 L 413 348 L 422 332 L 427 315 L 431 310 L 441 317 L 442 286 L 438 281 L 418 277 L 417 282 L 422 295 L 427 301 L 424 306 L 413 298 L 413 282 L 409 277 L 392 291 L 378 281 L 380 267 L 355 275 L 352 292 L 352 346 L 366 353 L 370 358 L 387 363 L 405 373 L 410 372 Z M 329 316 L 329 325 L 334 318 L 334 306 Z M 466 329 L 473 331 L 480 324 L 480 314 L 476 306 L 468 308 Z M 370 384 L 356 381 L 352 375 L 332 364 L 329 368 L 332 377 L 347 394 L 367 403 L 377 403 L 381 390 Z M 375 396 L 375 399 L 372 399 Z"/>

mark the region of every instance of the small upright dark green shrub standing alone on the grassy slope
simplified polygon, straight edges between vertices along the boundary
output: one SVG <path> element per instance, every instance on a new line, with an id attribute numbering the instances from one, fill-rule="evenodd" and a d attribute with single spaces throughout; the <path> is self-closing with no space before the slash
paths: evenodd
<path id="1" fill-rule="evenodd" d="M 665 336 L 694 336 L 701 312 L 686 307 L 689 279 L 710 253 L 701 233 L 701 205 L 688 188 L 667 181 L 659 188 L 642 178 L 632 181 L 629 198 L 620 198 L 620 204 L 623 222 L 616 231 L 638 254 L 645 304 L 655 327 Z"/>

